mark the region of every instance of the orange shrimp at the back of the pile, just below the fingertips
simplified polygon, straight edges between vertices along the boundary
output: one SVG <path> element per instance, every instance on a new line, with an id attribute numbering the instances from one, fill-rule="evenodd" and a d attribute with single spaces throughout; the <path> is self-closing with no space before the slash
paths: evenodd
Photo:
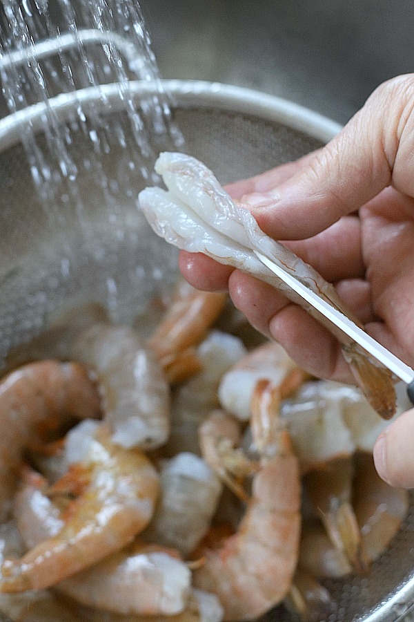
<path id="1" fill-rule="evenodd" d="M 181 279 L 172 302 L 148 344 L 157 352 L 170 383 L 181 382 L 201 369 L 195 346 L 226 304 L 223 292 L 201 292 Z"/>

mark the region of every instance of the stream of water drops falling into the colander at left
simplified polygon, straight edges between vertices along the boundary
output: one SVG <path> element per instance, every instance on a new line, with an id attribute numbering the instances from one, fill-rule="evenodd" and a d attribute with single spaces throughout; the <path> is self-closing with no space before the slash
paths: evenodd
<path id="1" fill-rule="evenodd" d="M 23 152 L 10 149 L 2 160 L 18 190 L 8 199 L 3 192 L 0 214 L 10 301 L 24 307 L 17 292 L 29 282 L 33 295 L 47 292 L 39 313 L 91 292 L 114 317 L 128 315 L 137 292 L 142 300 L 152 294 L 154 267 L 175 270 L 170 252 L 148 234 L 136 198 L 148 178 L 158 181 L 159 151 L 183 142 L 137 0 L 2 0 L 0 81 L 0 108 L 22 120 Z M 34 107 L 42 111 L 40 132 L 28 118 Z M 25 243 L 12 218 L 26 218 L 33 189 L 19 187 L 19 167 L 23 178 L 30 171 L 40 204 L 39 217 L 27 216 Z M 0 267 L 0 282 L 1 274 Z M 38 328 L 30 324 L 29 333 Z M 0 337 L 2 330 L 0 322 Z M 12 343 L 12 331 L 5 339 Z"/>

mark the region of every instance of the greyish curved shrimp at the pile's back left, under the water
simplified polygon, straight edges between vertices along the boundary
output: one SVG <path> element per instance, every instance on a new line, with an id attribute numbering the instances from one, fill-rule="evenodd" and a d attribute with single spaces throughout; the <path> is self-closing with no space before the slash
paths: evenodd
<path id="1" fill-rule="evenodd" d="M 166 442 L 170 430 L 170 390 L 157 355 L 129 326 L 117 326 L 99 305 L 55 317 L 48 330 L 12 353 L 77 361 L 95 372 L 103 394 L 105 420 L 114 442 L 150 449 Z"/>

